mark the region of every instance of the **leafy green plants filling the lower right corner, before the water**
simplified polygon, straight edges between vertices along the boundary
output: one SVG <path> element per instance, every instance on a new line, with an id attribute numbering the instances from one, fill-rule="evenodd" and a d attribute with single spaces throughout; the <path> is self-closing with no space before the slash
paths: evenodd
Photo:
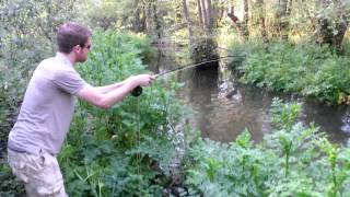
<path id="1" fill-rule="evenodd" d="M 189 149 L 186 184 L 205 196 L 348 196 L 348 148 L 298 123 L 301 104 L 271 105 L 273 130 L 260 143 L 245 130 L 232 143 L 199 140 Z"/>

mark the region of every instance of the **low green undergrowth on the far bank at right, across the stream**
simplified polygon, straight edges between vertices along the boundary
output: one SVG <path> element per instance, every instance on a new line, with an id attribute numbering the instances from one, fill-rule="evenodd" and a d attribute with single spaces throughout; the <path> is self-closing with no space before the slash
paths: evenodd
<path id="1" fill-rule="evenodd" d="M 233 54 L 248 55 L 236 68 L 245 83 L 350 104 L 350 58 L 328 46 L 250 39 L 232 44 L 230 48 Z"/>

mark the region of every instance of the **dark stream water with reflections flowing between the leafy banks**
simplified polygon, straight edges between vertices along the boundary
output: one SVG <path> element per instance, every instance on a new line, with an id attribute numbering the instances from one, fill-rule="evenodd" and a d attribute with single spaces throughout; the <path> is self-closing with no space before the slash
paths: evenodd
<path id="1" fill-rule="evenodd" d="M 161 58 L 158 60 L 160 63 L 152 66 L 161 71 L 179 67 L 171 56 L 172 53 L 163 54 L 158 57 Z M 230 142 L 248 129 L 253 140 L 260 141 L 272 130 L 269 116 L 272 99 L 280 97 L 284 102 L 302 102 L 301 121 L 319 126 L 332 142 L 347 143 L 350 137 L 350 107 L 328 106 L 315 100 L 242 84 L 228 63 L 220 61 L 217 66 L 206 66 L 206 69 L 187 69 L 176 73 L 178 81 L 185 83 L 178 99 L 192 111 L 188 123 L 200 129 L 203 138 Z"/>

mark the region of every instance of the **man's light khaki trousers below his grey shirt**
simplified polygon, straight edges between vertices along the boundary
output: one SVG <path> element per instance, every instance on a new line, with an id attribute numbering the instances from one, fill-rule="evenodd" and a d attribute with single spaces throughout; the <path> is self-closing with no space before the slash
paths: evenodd
<path id="1" fill-rule="evenodd" d="M 8 149 L 8 160 L 13 174 L 24 182 L 27 196 L 67 197 L 56 157 Z"/>

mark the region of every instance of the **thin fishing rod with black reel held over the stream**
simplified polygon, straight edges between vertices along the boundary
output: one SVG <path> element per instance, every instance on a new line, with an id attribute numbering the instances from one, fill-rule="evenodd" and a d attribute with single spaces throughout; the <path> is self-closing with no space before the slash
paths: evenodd
<path id="1" fill-rule="evenodd" d="M 162 76 L 166 76 L 166 74 L 170 74 L 170 73 L 173 73 L 173 72 L 178 72 L 180 70 L 186 70 L 186 69 L 190 69 L 190 68 L 195 68 L 195 67 L 198 67 L 198 66 L 201 66 L 201 65 L 206 65 L 206 63 L 210 63 L 210 62 L 215 62 L 215 61 L 219 61 L 220 59 L 228 59 L 228 58 L 245 58 L 246 55 L 234 55 L 234 56 L 224 56 L 224 57 L 219 57 L 217 59 L 211 59 L 211 60 L 207 60 L 207 61 L 201 61 L 201 62 L 198 62 L 198 63 L 190 63 L 190 65 L 185 65 L 185 66 L 182 66 L 179 68 L 176 68 L 176 69 L 172 69 L 172 70 L 168 70 L 168 71 L 164 71 L 164 72 L 161 72 L 161 73 L 158 73 L 158 74 L 154 74 L 156 78 L 159 77 L 162 77 Z M 131 91 L 131 95 L 133 96 L 139 96 L 142 94 L 142 88 L 141 86 L 137 86 L 132 91 Z"/>

